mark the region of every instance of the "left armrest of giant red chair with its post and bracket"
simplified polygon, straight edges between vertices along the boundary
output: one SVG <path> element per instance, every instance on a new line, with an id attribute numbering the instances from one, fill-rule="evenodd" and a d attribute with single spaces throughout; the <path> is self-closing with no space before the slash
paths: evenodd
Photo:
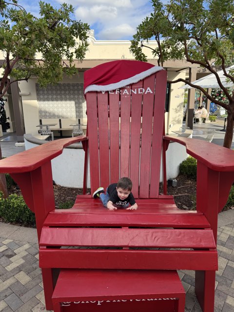
<path id="1" fill-rule="evenodd" d="M 86 136 L 59 139 L 0 160 L 0 173 L 12 176 L 20 186 L 25 203 L 35 213 L 38 238 L 46 216 L 55 209 L 51 159 L 76 142 L 82 142 L 87 150 L 87 140 Z"/>

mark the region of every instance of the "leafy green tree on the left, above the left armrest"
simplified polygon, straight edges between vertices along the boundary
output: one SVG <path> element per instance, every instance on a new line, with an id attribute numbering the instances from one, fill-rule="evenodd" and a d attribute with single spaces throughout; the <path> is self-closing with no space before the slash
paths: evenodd
<path id="1" fill-rule="evenodd" d="M 0 0 L 0 98 L 13 82 L 32 76 L 40 86 L 58 83 L 63 73 L 77 72 L 73 59 L 85 57 L 89 25 L 72 20 L 72 5 L 63 3 L 56 9 L 40 1 L 39 7 L 38 18 L 27 13 L 18 0 Z M 0 190 L 7 195 L 1 176 Z"/>

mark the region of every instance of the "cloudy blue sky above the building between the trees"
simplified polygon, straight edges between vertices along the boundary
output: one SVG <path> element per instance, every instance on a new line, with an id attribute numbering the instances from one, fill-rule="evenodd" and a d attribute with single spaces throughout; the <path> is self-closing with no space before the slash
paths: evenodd
<path id="1" fill-rule="evenodd" d="M 44 0 L 53 6 L 63 2 L 75 8 L 76 20 L 87 22 L 99 40 L 132 39 L 136 27 L 152 12 L 148 0 Z M 38 16 L 39 0 L 19 0 L 26 11 Z"/>

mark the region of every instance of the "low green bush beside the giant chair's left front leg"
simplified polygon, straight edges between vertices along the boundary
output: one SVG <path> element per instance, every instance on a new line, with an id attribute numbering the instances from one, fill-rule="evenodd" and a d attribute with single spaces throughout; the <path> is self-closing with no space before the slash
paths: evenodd
<path id="1" fill-rule="evenodd" d="M 24 226 L 35 226 L 35 215 L 25 204 L 23 197 L 12 194 L 4 199 L 0 192 L 0 217 L 9 223 L 19 223 Z"/>

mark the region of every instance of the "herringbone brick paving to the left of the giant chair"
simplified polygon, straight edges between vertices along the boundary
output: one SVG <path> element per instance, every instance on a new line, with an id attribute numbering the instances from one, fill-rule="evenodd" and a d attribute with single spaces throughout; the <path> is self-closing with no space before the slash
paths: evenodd
<path id="1" fill-rule="evenodd" d="M 0 238 L 0 311 L 46 311 L 36 243 Z"/>

